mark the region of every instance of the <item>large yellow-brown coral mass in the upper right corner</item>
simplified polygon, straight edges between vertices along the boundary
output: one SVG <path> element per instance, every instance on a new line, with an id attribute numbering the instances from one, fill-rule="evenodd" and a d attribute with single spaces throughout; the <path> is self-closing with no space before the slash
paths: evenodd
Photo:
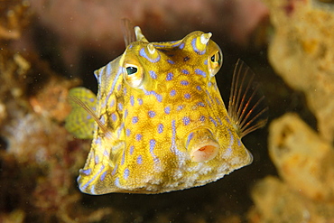
<path id="1" fill-rule="evenodd" d="M 286 83 L 304 92 L 320 135 L 333 141 L 334 12 L 311 0 L 266 2 L 275 28 L 269 60 Z"/>

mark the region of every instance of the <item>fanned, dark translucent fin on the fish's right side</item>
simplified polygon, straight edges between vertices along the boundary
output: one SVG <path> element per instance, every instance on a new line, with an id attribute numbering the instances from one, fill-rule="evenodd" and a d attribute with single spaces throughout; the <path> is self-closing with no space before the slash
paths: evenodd
<path id="1" fill-rule="evenodd" d="M 254 72 L 246 63 L 237 60 L 228 101 L 228 116 L 240 137 L 263 127 L 268 119 L 268 107 L 254 77 Z"/>

